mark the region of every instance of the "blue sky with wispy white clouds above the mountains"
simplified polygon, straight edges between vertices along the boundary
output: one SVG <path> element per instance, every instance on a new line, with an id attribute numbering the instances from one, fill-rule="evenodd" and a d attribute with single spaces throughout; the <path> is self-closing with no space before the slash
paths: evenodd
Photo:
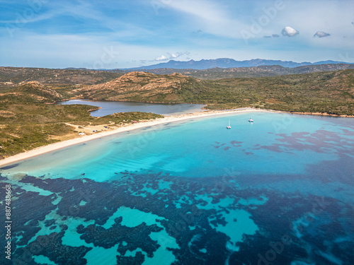
<path id="1" fill-rule="evenodd" d="M 353 0 L 0 0 L 0 66 L 354 62 Z"/>

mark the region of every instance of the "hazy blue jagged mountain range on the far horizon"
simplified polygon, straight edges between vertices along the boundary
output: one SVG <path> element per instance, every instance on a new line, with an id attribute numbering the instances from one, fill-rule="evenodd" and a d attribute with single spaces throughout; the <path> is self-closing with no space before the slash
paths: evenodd
<path id="1" fill-rule="evenodd" d="M 310 63 L 309 61 L 304 61 L 302 63 L 297 63 L 294 61 L 280 61 L 280 60 L 264 60 L 264 59 L 251 59 L 246 61 L 236 61 L 229 58 L 219 58 L 219 59 L 202 59 L 200 61 L 175 61 L 170 60 L 166 63 L 153 64 L 149 66 L 141 66 L 130 69 L 124 69 L 127 71 L 131 70 L 151 70 L 151 69 L 195 69 L 195 70 L 205 70 L 212 69 L 215 67 L 218 68 L 234 68 L 234 67 L 255 67 L 255 66 L 272 66 L 279 65 L 284 67 L 297 67 L 297 66 L 307 66 L 307 65 L 318 65 L 318 64 L 351 64 L 344 61 L 316 61 Z"/>

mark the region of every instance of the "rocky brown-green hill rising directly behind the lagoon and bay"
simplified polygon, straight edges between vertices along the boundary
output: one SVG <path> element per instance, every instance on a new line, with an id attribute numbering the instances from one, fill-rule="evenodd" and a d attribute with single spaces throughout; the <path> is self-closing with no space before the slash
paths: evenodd
<path id="1" fill-rule="evenodd" d="M 210 109 L 263 107 L 290 112 L 354 114 L 354 69 L 214 81 L 183 76 L 127 73 L 73 91 L 83 98 L 207 104 Z"/>

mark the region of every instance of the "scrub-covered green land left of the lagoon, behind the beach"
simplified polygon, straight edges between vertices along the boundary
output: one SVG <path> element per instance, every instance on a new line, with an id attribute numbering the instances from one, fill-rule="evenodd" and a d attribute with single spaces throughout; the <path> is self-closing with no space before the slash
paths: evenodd
<path id="1" fill-rule="evenodd" d="M 37 82 L 11 90 L 0 89 L 0 159 L 77 136 L 76 125 L 127 124 L 132 120 L 163 117 L 144 112 L 127 112 L 91 117 L 88 105 L 54 105 L 63 95 Z"/>

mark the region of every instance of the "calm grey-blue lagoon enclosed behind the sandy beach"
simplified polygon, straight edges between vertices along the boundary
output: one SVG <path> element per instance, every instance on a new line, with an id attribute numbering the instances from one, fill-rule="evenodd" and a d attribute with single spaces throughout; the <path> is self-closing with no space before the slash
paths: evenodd
<path id="1" fill-rule="evenodd" d="M 102 117 L 115 112 L 153 112 L 166 116 L 176 114 L 187 114 L 202 111 L 205 105 L 200 104 L 162 104 L 145 102 L 122 102 L 122 101 L 98 101 L 98 100 L 67 100 L 57 102 L 59 105 L 83 104 L 101 107 L 91 112 L 92 117 Z"/>

